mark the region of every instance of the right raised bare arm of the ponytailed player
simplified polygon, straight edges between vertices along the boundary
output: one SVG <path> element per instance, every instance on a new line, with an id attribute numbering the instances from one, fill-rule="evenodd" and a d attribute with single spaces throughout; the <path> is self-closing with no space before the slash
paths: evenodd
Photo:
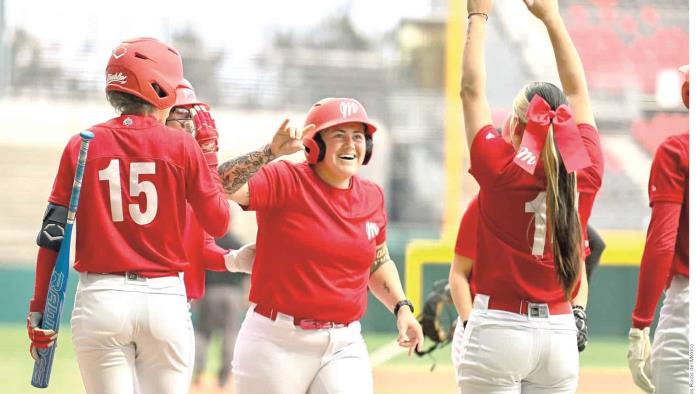
<path id="1" fill-rule="evenodd" d="M 529 11 L 544 23 L 549 33 L 553 53 L 556 56 L 558 76 L 575 115 L 575 121 L 597 127 L 590 107 L 585 70 L 582 68 L 580 55 L 575 49 L 573 40 L 570 39 L 563 18 L 558 12 L 558 0 L 524 0 L 524 2 Z"/>

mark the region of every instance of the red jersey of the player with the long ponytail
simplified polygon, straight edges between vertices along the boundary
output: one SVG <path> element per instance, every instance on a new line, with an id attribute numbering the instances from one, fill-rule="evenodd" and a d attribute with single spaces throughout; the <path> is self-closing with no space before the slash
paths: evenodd
<path id="1" fill-rule="evenodd" d="M 587 124 L 578 129 L 592 163 L 578 174 L 578 210 L 585 233 L 604 161 L 597 130 Z M 472 293 L 513 301 L 563 302 L 551 234 L 546 231 L 543 165 L 539 163 L 530 175 L 513 162 L 515 154 L 491 125 L 479 130 L 471 145 L 470 172 L 481 187 Z"/>

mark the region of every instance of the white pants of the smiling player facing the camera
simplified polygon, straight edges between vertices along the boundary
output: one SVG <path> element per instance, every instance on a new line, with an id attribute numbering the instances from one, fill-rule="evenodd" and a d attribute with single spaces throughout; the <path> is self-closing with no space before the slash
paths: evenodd
<path id="1" fill-rule="evenodd" d="M 360 322 L 304 330 L 278 313 L 247 311 L 232 361 L 238 394 L 371 394 L 372 370 Z"/>

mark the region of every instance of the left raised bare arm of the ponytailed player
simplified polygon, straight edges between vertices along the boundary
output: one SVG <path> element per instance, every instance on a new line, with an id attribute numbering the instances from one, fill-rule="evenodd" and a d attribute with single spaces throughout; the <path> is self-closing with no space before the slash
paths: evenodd
<path id="1" fill-rule="evenodd" d="M 467 11 L 469 24 L 462 55 L 462 82 L 460 96 L 464 112 L 464 128 L 467 146 L 481 127 L 492 124 L 491 109 L 486 98 L 486 59 L 484 41 L 486 24 L 491 10 L 490 0 L 469 0 Z"/>

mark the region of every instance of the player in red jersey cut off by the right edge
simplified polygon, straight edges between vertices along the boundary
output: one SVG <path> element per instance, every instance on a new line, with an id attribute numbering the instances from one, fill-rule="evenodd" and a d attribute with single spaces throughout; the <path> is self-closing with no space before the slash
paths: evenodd
<path id="1" fill-rule="evenodd" d="M 688 66 L 682 84 L 689 107 Z M 667 138 L 655 153 L 648 196 L 652 215 L 640 263 L 638 294 L 629 331 L 628 365 L 643 391 L 689 392 L 689 134 Z M 667 289 L 655 343 L 650 325 Z"/>

